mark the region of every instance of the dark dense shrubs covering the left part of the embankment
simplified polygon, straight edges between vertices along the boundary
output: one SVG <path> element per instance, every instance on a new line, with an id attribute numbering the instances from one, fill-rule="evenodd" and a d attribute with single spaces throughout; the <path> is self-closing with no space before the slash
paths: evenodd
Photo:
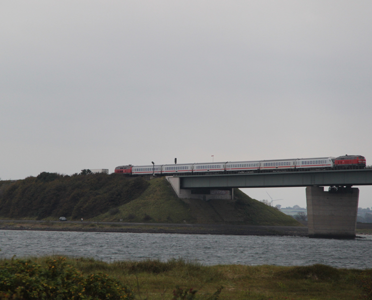
<path id="1" fill-rule="evenodd" d="M 142 178 L 43 172 L 0 186 L 0 216 L 10 219 L 92 218 L 137 198 L 148 187 Z"/>

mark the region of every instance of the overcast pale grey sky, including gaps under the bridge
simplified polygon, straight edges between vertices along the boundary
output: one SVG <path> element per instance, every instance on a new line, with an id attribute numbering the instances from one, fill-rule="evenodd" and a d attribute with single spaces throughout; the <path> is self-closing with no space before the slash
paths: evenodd
<path id="1" fill-rule="evenodd" d="M 369 0 L 1 1 L 0 178 L 212 155 L 371 165 L 371 15 Z M 305 187 L 245 191 L 306 206 Z"/>

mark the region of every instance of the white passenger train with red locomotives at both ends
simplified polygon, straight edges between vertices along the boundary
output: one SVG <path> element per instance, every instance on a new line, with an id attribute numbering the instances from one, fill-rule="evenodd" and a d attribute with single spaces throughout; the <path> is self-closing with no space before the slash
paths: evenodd
<path id="1" fill-rule="evenodd" d="M 190 163 L 170 165 L 119 166 L 115 173 L 127 176 L 172 176 L 239 174 L 252 172 L 285 172 L 336 169 L 362 169 L 366 167 L 366 158 L 361 155 L 339 157 L 296 158 L 261 161 Z"/>

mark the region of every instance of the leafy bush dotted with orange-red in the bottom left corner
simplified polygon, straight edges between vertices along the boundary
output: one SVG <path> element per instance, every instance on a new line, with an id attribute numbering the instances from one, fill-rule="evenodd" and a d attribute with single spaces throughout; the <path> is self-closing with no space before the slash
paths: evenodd
<path id="1" fill-rule="evenodd" d="M 85 278 L 65 258 L 49 259 L 46 266 L 31 260 L 11 260 L 0 269 L 0 299 L 12 300 L 132 300 L 131 291 L 103 273 Z"/>

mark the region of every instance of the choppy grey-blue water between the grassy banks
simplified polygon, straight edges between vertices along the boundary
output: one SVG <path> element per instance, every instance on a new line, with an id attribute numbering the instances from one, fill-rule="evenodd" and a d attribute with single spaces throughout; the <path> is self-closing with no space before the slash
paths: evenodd
<path id="1" fill-rule="evenodd" d="M 61 254 L 103 261 L 166 261 L 183 257 L 205 265 L 312 265 L 372 268 L 372 239 L 0 231 L 0 258 Z"/>

